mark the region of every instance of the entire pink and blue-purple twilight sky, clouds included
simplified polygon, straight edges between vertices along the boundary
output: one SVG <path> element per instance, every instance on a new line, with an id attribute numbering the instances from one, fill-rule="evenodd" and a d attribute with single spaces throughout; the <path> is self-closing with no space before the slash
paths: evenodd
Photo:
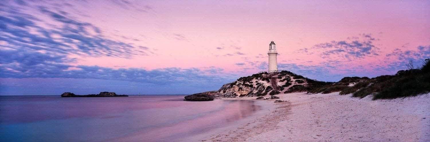
<path id="1" fill-rule="evenodd" d="M 218 90 L 278 68 L 376 77 L 430 57 L 430 2 L 6 0 L 0 95 Z"/>

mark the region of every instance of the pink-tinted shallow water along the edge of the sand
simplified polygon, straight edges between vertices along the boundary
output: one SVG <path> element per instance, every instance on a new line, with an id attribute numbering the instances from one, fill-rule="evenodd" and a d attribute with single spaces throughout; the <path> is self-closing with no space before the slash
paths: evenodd
<path id="1" fill-rule="evenodd" d="M 208 130 L 225 127 L 234 121 L 249 117 L 255 111 L 261 109 L 261 106 L 255 105 L 252 101 L 234 100 L 234 101 L 212 101 L 214 104 L 223 105 L 227 103 L 223 109 L 198 117 L 192 120 L 184 120 L 180 123 L 175 123 L 165 127 L 154 127 L 142 130 L 126 137 L 111 139 L 111 141 L 147 141 L 147 142 L 169 142 L 175 139 L 184 139 L 188 136 L 193 136 L 199 133 L 207 132 Z M 190 102 L 201 103 L 201 102 Z M 211 107 L 206 105 L 195 105 L 197 107 L 189 108 L 185 106 L 182 109 L 201 109 L 205 110 Z M 201 111 L 197 110 L 197 111 Z"/>

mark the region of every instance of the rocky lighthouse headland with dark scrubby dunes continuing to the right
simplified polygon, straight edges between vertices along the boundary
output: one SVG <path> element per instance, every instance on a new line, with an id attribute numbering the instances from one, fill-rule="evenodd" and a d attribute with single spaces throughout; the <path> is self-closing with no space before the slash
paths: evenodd
<path id="1" fill-rule="evenodd" d="M 412 65 L 410 65 L 412 66 Z M 408 68 L 394 75 L 378 77 L 344 77 L 338 82 L 313 80 L 290 71 L 281 71 L 276 76 L 279 90 L 273 90 L 272 84 L 263 74 L 252 74 L 240 77 L 232 83 L 223 85 L 218 91 L 219 97 L 266 96 L 281 93 L 307 92 L 333 93 L 340 95 L 352 94 L 353 97 L 364 98 L 372 95 L 373 99 L 393 99 L 406 96 L 417 96 L 430 92 L 429 60 L 418 68 Z"/>

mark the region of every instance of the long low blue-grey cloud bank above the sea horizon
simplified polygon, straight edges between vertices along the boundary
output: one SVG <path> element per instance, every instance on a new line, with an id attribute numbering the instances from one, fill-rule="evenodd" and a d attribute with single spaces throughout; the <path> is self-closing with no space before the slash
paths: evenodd
<path id="1" fill-rule="evenodd" d="M 47 54 L 31 50 L 2 50 L 0 78 L 75 78 L 121 80 L 151 84 L 226 83 L 229 75 L 213 75 L 222 68 L 106 68 L 99 66 L 69 65 L 74 62 L 65 55 Z M 73 68 L 73 69 L 72 69 Z M 209 73 L 209 74 L 208 74 Z M 233 77 L 234 78 L 234 77 Z"/>

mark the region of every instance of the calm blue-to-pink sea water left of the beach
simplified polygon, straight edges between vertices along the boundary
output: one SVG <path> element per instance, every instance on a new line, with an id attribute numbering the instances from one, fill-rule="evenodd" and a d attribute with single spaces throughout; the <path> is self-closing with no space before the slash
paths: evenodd
<path id="1" fill-rule="evenodd" d="M 252 101 L 189 102 L 183 98 L 0 96 L 0 141 L 184 141 L 260 109 Z"/>

